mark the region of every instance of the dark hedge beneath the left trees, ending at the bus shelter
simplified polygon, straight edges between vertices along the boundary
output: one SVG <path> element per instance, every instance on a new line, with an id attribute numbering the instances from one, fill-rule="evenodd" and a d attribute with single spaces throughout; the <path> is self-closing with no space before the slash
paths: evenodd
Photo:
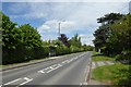
<path id="1" fill-rule="evenodd" d="M 2 64 L 20 63 L 33 59 L 46 58 L 49 53 L 48 47 L 37 48 L 17 48 L 17 49 L 3 49 Z"/>

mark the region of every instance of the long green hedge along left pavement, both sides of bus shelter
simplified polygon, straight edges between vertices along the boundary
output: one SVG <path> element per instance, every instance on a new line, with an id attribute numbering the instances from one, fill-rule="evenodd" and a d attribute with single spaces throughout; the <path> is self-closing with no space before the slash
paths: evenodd
<path id="1" fill-rule="evenodd" d="M 21 47 L 10 50 L 5 50 L 5 48 L 3 48 L 2 51 L 2 64 L 26 62 L 34 59 L 44 59 L 49 55 L 49 47 Z M 84 50 L 74 46 L 71 46 L 70 48 L 61 46 L 56 48 L 56 55 L 75 53 Z"/>

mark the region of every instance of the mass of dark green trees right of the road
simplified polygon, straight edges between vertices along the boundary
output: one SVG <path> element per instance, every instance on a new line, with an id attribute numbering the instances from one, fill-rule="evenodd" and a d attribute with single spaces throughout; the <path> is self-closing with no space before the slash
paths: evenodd
<path id="1" fill-rule="evenodd" d="M 131 14 L 110 13 L 97 22 L 102 25 L 94 33 L 96 51 L 131 62 Z"/>

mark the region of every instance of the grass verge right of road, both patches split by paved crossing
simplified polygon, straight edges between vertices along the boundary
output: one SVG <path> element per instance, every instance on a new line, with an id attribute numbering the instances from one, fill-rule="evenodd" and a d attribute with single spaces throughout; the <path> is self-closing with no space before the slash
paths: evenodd
<path id="1" fill-rule="evenodd" d="M 94 62 L 115 61 L 116 58 L 106 57 L 100 52 L 93 52 Z M 131 65 L 123 63 L 115 63 L 112 65 L 104 65 L 93 70 L 92 79 L 99 80 L 105 84 L 115 85 L 115 87 L 128 87 L 131 83 Z"/>

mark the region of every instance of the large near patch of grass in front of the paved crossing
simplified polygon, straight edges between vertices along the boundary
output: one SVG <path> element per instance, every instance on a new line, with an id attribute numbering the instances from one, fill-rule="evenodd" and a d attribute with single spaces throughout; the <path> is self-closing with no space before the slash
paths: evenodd
<path id="1" fill-rule="evenodd" d="M 112 85 L 131 85 L 131 65 L 116 63 L 94 69 L 92 78 Z"/>

